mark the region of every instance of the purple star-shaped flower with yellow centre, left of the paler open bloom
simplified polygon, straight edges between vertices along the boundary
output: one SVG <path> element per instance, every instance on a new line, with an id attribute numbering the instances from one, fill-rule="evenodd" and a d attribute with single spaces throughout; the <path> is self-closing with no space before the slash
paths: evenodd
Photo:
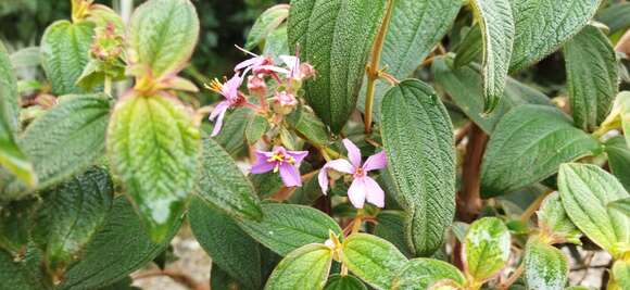
<path id="1" fill-rule="evenodd" d="M 276 147 L 272 152 L 256 151 L 256 163 L 252 166 L 252 174 L 263 174 L 270 171 L 280 172 L 282 182 L 287 187 L 302 186 L 302 177 L 298 165 L 308 151 L 288 151 L 284 147 Z"/>

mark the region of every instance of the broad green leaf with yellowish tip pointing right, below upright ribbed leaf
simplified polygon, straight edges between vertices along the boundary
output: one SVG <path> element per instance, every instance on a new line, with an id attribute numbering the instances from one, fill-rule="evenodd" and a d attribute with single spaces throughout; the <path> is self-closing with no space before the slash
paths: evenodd
<path id="1" fill-rule="evenodd" d="M 481 165 L 481 196 L 506 194 L 556 173 L 559 164 L 591 155 L 597 141 L 552 106 L 521 105 L 496 125 Z"/>

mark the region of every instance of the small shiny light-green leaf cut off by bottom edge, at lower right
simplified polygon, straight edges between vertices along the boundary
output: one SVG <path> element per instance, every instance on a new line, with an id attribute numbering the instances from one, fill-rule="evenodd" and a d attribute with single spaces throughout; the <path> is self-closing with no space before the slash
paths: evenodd
<path id="1" fill-rule="evenodd" d="M 565 288 L 569 276 L 569 261 L 560 250 L 531 238 L 527 242 L 522 263 L 528 289 Z"/>

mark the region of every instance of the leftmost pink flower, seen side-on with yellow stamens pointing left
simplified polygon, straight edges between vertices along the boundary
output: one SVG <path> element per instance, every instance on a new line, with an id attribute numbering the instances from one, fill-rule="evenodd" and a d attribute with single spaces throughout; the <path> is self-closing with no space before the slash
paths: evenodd
<path id="1" fill-rule="evenodd" d="M 225 98 L 224 101 L 219 102 L 212 114 L 210 114 L 210 121 L 216 121 L 214 124 L 214 129 L 212 130 L 212 137 L 217 136 L 223 126 L 223 117 L 228 109 L 238 106 L 245 102 L 245 98 L 239 92 L 239 88 L 242 85 L 243 79 L 238 74 L 235 74 L 225 84 L 220 84 L 217 79 L 212 80 L 206 87 L 212 91 L 219 93 Z"/>

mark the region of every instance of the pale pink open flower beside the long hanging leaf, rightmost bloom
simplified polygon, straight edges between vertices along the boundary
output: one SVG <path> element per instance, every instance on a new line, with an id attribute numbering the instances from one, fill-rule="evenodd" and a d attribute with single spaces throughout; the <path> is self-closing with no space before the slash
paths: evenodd
<path id="1" fill-rule="evenodd" d="M 343 139 L 343 146 L 348 150 L 350 162 L 343 159 L 332 160 L 326 163 L 319 171 L 319 186 L 326 194 L 328 191 L 328 169 L 340 173 L 351 174 L 353 177 L 352 185 L 348 190 L 348 198 L 354 207 L 363 209 L 365 201 L 378 206 L 385 206 L 385 192 L 371 177 L 367 176 L 368 172 L 382 169 L 387 166 L 387 156 L 385 151 L 376 153 L 367 159 L 362 165 L 361 151 L 349 139 Z"/>

